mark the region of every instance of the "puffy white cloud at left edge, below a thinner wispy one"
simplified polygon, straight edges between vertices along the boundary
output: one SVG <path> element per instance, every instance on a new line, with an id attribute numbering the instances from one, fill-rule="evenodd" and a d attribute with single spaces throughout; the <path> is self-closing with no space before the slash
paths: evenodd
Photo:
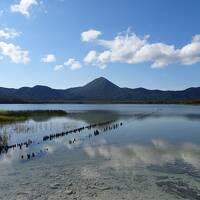
<path id="1" fill-rule="evenodd" d="M 12 43 L 0 42 L 0 52 L 8 56 L 14 63 L 28 63 L 30 61 L 29 52 Z"/>

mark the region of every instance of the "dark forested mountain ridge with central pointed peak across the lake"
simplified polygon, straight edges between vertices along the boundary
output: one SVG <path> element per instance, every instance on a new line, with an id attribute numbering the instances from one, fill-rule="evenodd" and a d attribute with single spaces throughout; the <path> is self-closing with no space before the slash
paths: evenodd
<path id="1" fill-rule="evenodd" d="M 200 87 L 180 91 L 121 88 L 104 77 L 82 87 L 0 87 L 0 103 L 200 103 Z"/>

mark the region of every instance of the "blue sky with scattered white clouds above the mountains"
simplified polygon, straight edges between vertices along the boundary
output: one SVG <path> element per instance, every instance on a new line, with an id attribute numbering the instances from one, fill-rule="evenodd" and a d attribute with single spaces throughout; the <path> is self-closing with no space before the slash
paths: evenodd
<path id="1" fill-rule="evenodd" d="M 0 0 L 0 87 L 200 86 L 200 1 Z"/>

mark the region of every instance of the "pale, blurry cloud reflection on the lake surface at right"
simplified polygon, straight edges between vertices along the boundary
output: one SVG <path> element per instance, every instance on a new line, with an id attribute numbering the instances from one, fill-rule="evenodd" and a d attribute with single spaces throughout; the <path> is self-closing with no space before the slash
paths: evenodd
<path id="1" fill-rule="evenodd" d="M 97 147 L 86 146 L 84 151 L 91 158 L 103 157 L 107 166 L 113 168 L 149 167 L 175 164 L 177 161 L 187 163 L 200 169 L 200 146 L 192 143 L 170 144 L 153 139 L 150 144 L 128 144 L 116 146 L 103 144 Z"/>

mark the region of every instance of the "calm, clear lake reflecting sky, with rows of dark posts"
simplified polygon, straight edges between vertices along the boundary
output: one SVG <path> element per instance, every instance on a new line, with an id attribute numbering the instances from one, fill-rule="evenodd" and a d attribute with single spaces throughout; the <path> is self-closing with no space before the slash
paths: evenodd
<path id="1" fill-rule="evenodd" d="M 40 109 L 68 114 L 0 125 L 28 143 L 0 155 L 0 199 L 200 199 L 200 106 L 0 105 Z"/>

